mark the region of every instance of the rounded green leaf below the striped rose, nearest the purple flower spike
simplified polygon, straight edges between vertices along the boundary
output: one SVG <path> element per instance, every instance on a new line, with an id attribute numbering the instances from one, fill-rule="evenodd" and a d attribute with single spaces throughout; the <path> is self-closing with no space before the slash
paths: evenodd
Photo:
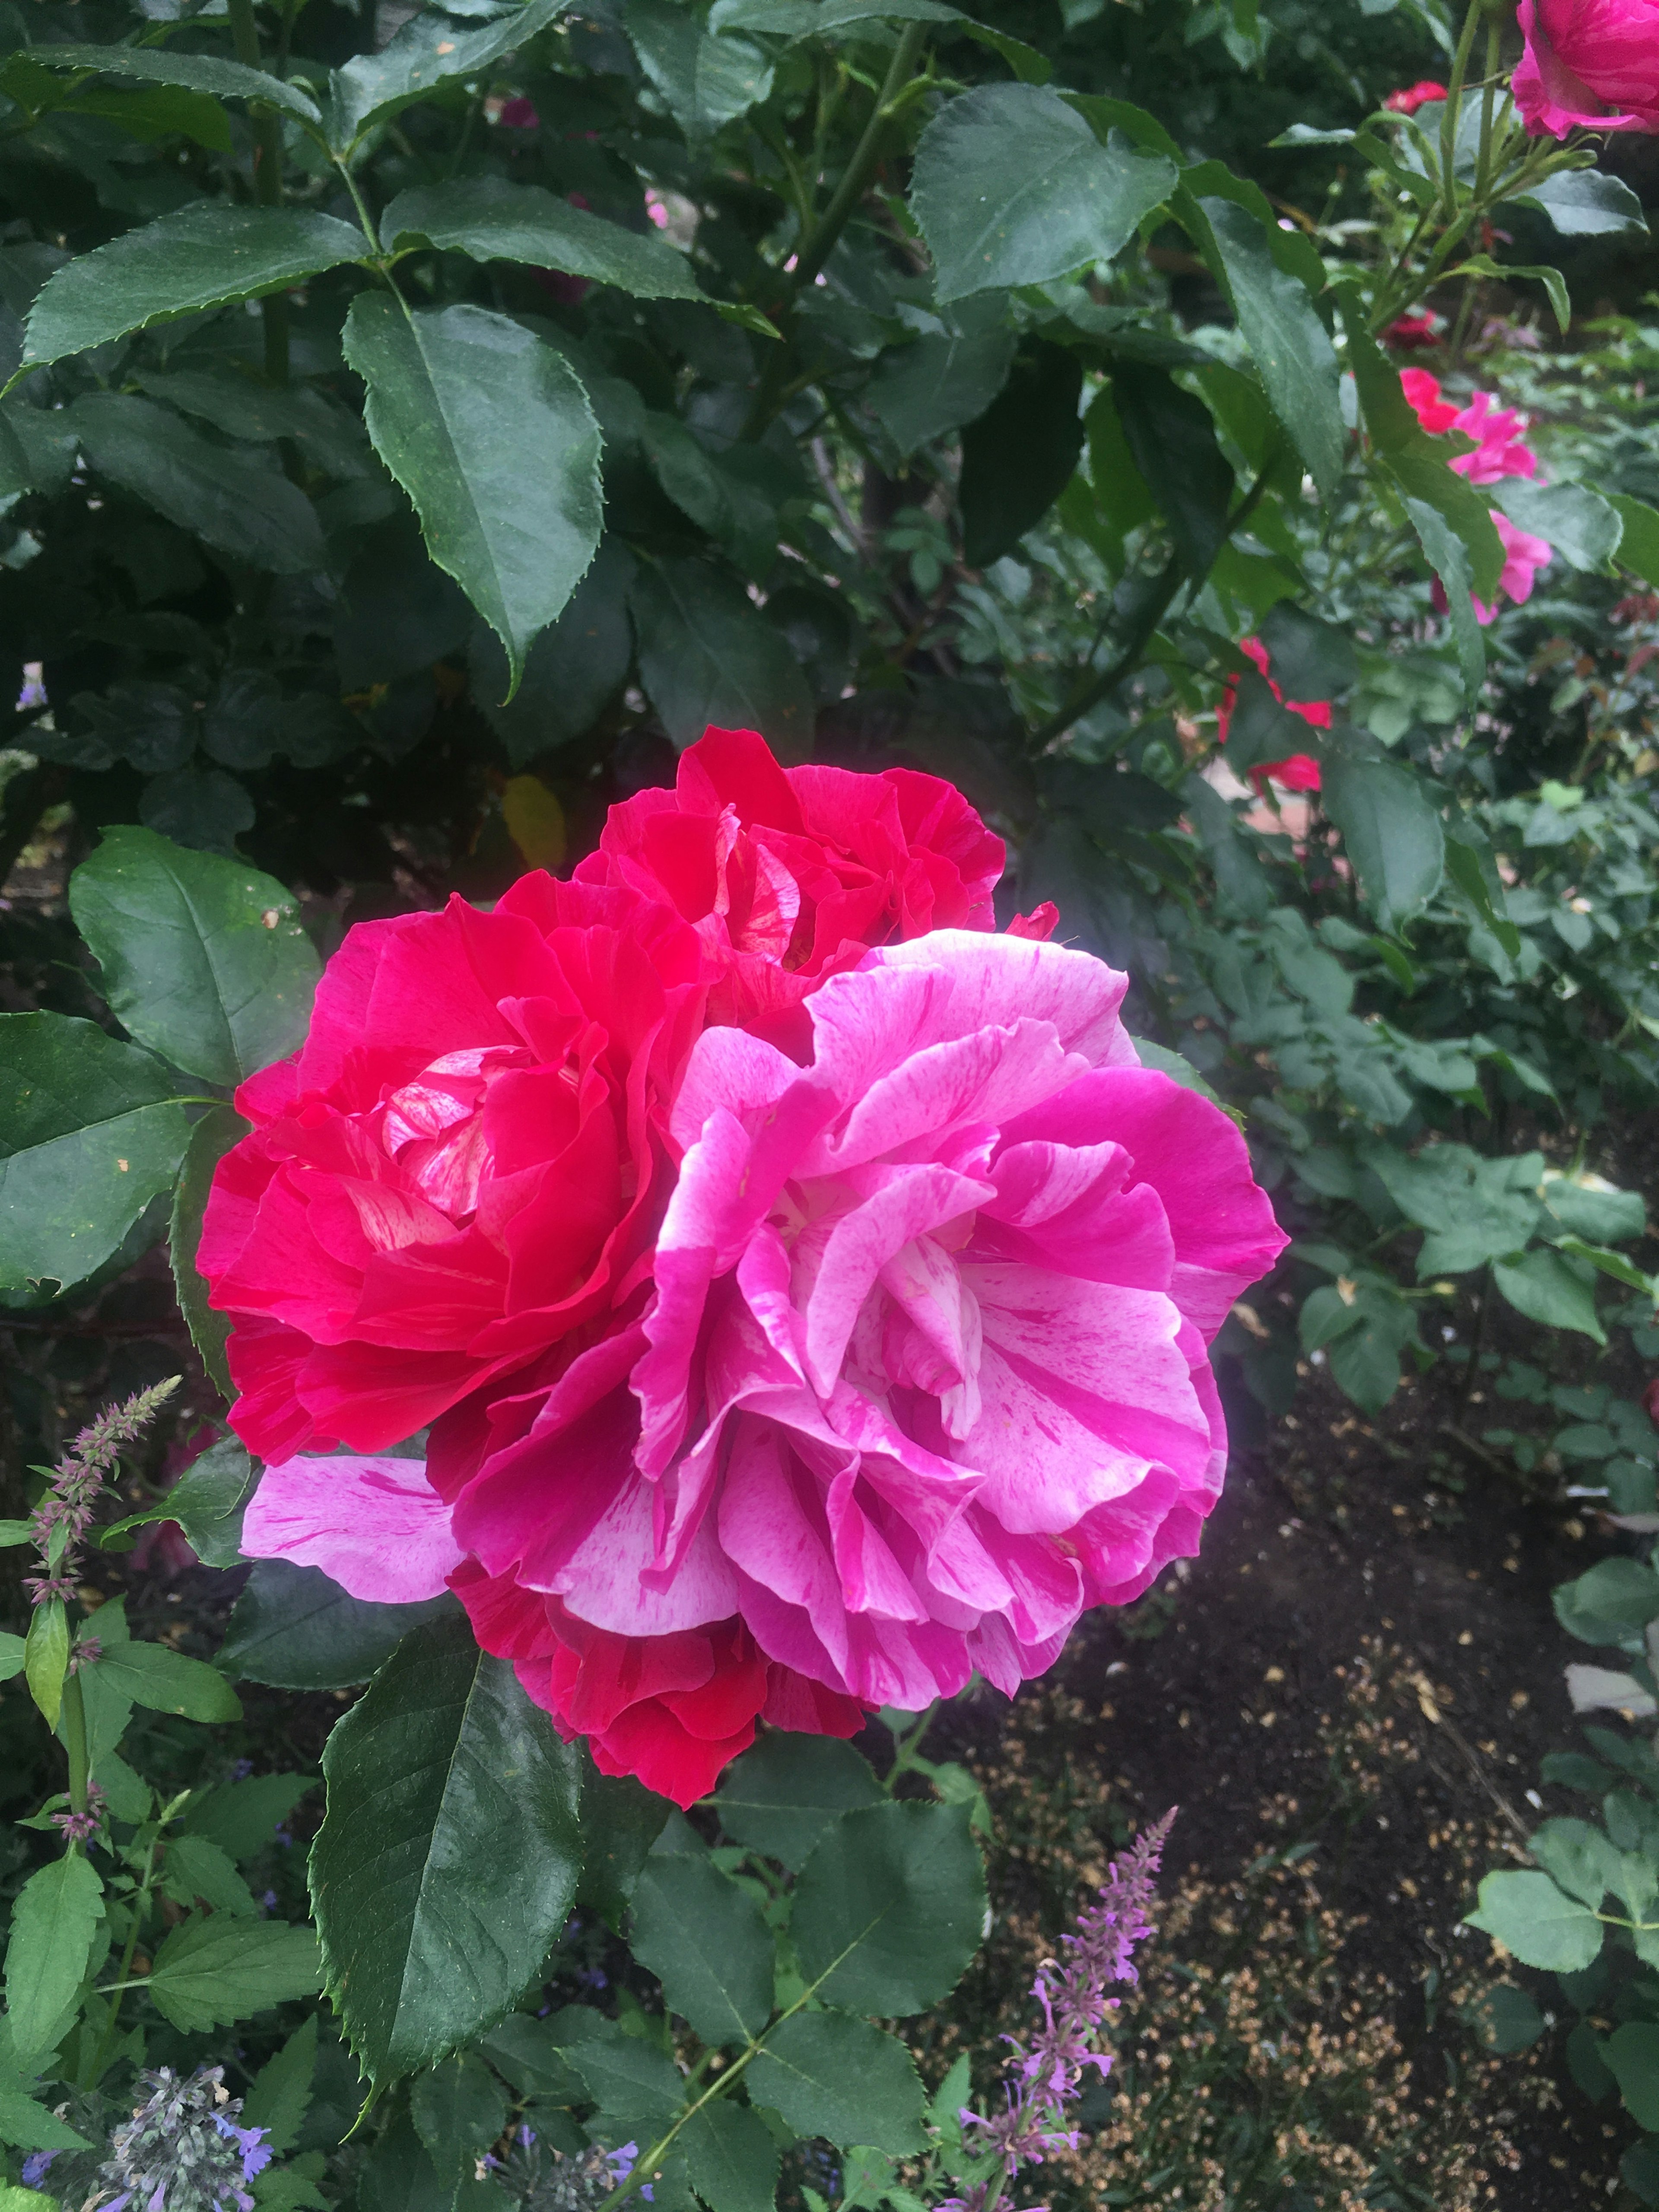
<path id="1" fill-rule="evenodd" d="M 962 1805 L 843 1814 L 801 1869 L 790 1938 L 825 2004 L 905 2017 L 956 1989 L 984 1929 L 984 1869 Z"/>

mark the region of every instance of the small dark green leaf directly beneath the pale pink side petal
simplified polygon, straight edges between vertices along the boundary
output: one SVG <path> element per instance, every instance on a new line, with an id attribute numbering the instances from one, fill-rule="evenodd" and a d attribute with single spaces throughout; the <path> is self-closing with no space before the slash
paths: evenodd
<path id="1" fill-rule="evenodd" d="M 453 1613 L 453 1597 L 376 1606 L 347 1597 L 316 1566 L 257 1559 L 237 1599 L 219 1666 L 237 1681 L 279 1690 L 345 1690 L 367 1681 L 411 1628 Z"/>

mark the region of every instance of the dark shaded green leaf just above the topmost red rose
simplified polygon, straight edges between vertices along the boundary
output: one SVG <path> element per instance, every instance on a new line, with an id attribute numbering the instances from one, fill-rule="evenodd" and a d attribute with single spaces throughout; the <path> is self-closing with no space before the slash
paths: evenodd
<path id="1" fill-rule="evenodd" d="M 743 586 L 699 560 L 641 566 L 630 593 L 639 677 L 677 745 L 710 723 L 759 730 L 783 761 L 812 745 L 812 692 Z"/>

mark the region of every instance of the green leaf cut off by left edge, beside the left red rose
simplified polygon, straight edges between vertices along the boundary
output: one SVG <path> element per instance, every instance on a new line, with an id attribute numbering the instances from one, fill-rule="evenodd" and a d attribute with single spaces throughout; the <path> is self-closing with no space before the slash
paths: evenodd
<path id="1" fill-rule="evenodd" d="M 0 1015 L 0 1303 L 84 1283 L 173 1186 L 188 1144 L 150 1053 L 62 1013 Z"/>

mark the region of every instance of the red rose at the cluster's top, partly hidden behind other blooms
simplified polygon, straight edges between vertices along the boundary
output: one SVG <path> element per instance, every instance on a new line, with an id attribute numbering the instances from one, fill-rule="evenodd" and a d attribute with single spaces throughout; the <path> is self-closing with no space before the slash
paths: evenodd
<path id="1" fill-rule="evenodd" d="M 1002 838 L 938 776 L 781 768 L 754 730 L 708 730 L 672 792 L 611 810 L 575 880 L 670 905 L 723 971 L 710 1022 L 783 1042 L 814 984 L 872 945 L 995 929 L 1002 858 Z"/>

